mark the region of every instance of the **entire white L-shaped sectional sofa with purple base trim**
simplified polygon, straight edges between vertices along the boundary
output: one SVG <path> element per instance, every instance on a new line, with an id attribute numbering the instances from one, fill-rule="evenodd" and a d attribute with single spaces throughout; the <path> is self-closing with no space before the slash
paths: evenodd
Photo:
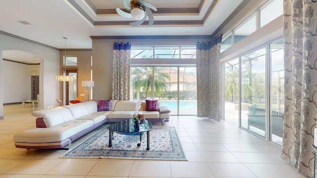
<path id="1" fill-rule="evenodd" d="M 98 111 L 98 102 L 88 101 L 52 109 L 33 111 L 36 128 L 14 134 L 15 147 L 26 149 L 63 148 L 106 122 L 118 122 L 133 118 L 137 101 L 111 101 L 110 111 Z M 145 111 L 142 102 L 140 111 L 151 122 L 168 122 L 169 109 L 159 107 L 158 111 Z"/>

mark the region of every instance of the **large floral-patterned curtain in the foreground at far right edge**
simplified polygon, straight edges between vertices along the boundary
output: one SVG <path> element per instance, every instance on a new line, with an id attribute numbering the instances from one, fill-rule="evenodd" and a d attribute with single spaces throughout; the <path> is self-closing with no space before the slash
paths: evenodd
<path id="1" fill-rule="evenodd" d="M 285 110 L 281 157 L 314 177 L 317 0 L 284 0 Z M 314 11 L 315 9 L 315 11 Z"/>

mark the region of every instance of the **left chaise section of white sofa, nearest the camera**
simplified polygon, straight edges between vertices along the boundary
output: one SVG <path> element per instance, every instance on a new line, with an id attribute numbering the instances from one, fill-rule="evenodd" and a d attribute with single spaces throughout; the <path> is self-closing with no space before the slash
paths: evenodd
<path id="1" fill-rule="evenodd" d="M 106 116 L 97 112 L 96 101 L 65 107 L 33 111 L 37 128 L 14 134 L 15 147 L 26 149 L 63 148 L 106 122 Z"/>

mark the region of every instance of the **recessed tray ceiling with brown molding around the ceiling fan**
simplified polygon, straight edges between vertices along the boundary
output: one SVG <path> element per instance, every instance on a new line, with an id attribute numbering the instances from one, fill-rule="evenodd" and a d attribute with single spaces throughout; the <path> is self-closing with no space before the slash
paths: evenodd
<path id="1" fill-rule="evenodd" d="M 104 0 L 67 1 L 95 27 L 129 25 L 134 22 L 117 14 L 116 8 L 119 8 L 123 13 L 130 13 L 123 5 L 124 0 L 115 0 L 111 3 Z M 157 11 L 152 10 L 154 14 L 153 25 L 202 26 L 215 8 L 218 0 L 182 0 L 181 2 L 148 0 L 148 2 L 157 7 Z M 149 19 L 151 17 L 146 18 L 141 25 L 151 25 Z"/>

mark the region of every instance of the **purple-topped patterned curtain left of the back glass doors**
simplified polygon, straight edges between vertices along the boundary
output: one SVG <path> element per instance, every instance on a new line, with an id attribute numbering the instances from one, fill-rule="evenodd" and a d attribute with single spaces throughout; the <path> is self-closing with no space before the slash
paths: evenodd
<path id="1" fill-rule="evenodd" d="M 112 99 L 129 100 L 130 43 L 113 44 Z"/>

